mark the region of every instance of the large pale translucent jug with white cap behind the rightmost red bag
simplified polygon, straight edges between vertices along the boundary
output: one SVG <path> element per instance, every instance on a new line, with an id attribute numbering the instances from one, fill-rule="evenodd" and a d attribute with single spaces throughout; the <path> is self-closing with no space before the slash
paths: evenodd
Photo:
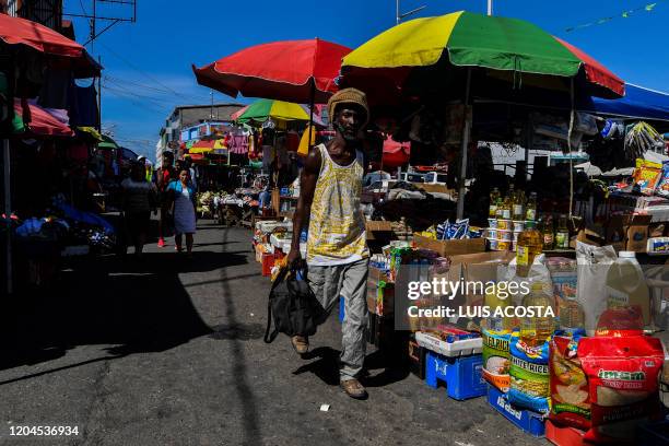
<path id="1" fill-rule="evenodd" d="M 607 301 L 609 308 L 641 307 L 644 325 L 650 322 L 650 294 L 636 255 L 633 251 L 618 253 L 618 260 L 607 273 Z"/>

